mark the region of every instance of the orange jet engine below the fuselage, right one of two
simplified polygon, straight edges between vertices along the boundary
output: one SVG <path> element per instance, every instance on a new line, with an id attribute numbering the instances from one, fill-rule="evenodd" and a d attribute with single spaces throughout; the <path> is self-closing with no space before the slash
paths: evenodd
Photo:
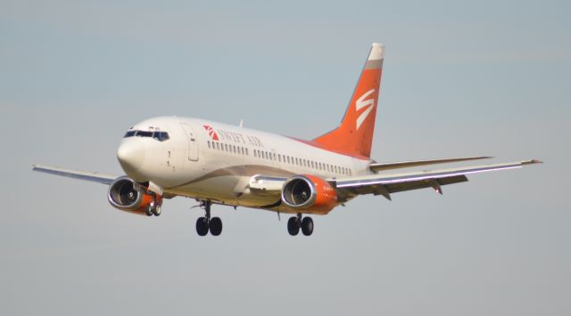
<path id="1" fill-rule="evenodd" d="M 337 192 L 318 176 L 299 174 L 284 182 L 282 202 L 293 209 L 327 214 L 337 204 Z"/>

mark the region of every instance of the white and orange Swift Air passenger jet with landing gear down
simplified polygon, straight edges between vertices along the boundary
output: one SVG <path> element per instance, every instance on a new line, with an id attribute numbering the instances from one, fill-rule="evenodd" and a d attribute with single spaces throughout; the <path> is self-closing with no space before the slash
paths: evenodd
<path id="1" fill-rule="evenodd" d="M 531 159 L 434 171 L 389 170 L 490 157 L 377 163 L 370 158 L 385 46 L 374 43 L 341 124 L 311 140 L 261 132 L 202 118 L 153 117 L 128 129 L 117 158 L 126 175 L 34 165 L 47 174 L 109 185 L 112 207 L 161 215 L 163 199 L 196 199 L 204 215 L 196 232 L 219 236 L 222 221 L 211 206 L 249 207 L 292 215 L 287 231 L 310 236 L 309 215 L 327 215 L 362 194 L 392 199 L 393 193 L 467 182 L 468 174 L 542 163 Z"/>

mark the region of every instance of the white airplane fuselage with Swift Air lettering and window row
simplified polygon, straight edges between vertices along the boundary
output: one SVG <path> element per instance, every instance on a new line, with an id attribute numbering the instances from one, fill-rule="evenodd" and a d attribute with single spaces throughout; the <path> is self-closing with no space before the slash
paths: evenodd
<path id="1" fill-rule="evenodd" d="M 287 178 L 312 174 L 324 179 L 371 174 L 368 158 L 350 157 L 316 144 L 240 126 L 188 117 L 153 117 L 129 131 L 166 132 L 126 137 L 118 158 L 137 182 L 153 182 L 165 194 L 206 199 L 229 206 L 289 212 L 280 196 L 252 192 L 253 175 Z"/>

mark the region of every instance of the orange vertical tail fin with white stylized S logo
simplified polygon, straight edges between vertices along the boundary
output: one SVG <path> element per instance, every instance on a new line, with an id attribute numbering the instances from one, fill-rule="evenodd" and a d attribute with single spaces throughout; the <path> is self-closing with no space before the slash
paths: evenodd
<path id="1" fill-rule="evenodd" d="M 341 125 L 313 142 L 329 150 L 370 158 L 384 59 L 385 46 L 374 43 Z"/>

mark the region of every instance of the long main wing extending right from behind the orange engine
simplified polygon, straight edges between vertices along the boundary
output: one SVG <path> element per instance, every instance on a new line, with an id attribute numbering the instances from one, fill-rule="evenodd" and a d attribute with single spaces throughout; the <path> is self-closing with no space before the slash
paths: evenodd
<path id="1" fill-rule="evenodd" d="M 441 186 L 452 183 L 467 182 L 468 174 L 519 168 L 538 163 L 542 162 L 534 159 L 495 165 L 465 166 L 434 171 L 419 171 L 407 174 L 370 174 L 336 179 L 335 188 L 338 193 L 348 197 L 360 194 L 375 194 L 383 195 L 386 199 L 391 199 L 391 193 L 423 188 L 433 188 L 438 193 L 442 194 L 443 191 Z"/>

